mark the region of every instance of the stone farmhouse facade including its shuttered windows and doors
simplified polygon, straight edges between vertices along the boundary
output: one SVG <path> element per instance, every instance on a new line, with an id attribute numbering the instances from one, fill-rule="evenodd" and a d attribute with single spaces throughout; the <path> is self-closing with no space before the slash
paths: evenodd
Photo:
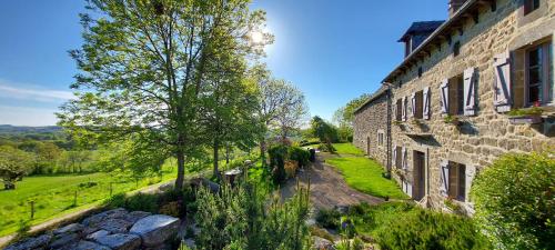
<path id="1" fill-rule="evenodd" d="M 408 196 L 440 209 L 450 199 L 472 213 L 468 193 L 483 168 L 507 152 L 553 149 L 554 30 L 553 0 L 452 0 L 450 19 L 405 47 L 383 84 L 393 114 L 386 166 Z M 383 127 L 364 121 L 373 103 L 355 113 L 359 147 Z"/>

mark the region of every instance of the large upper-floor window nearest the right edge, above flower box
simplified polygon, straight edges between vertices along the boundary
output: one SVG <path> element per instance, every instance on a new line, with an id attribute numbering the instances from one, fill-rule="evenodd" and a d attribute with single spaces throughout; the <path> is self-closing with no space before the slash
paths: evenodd
<path id="1" fill-rule="evenodd" d="M 543 43 L 526 50 L 526 106 L 542 106 L 553 100 L 552 44 Z"/>

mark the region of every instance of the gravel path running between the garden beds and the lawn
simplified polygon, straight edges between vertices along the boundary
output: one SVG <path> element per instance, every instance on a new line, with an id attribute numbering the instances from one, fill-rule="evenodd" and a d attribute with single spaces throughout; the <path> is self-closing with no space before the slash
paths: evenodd
<path id="1" fill-rule="evenodd" d="M 312 167 L 299 174 L 301 186 L 306 187 L 311 182 L 311 202 L 316 209 L 332 209 L 337 206 L 351 206 L 361 202 L 377 204 L 384 202 L 383 199 L 373 197 L 350 188 L 343 176 L 333 167 L 324 163 L 329 156 L 319 154 L 317 160 Z M 296 181 L 290 180 L 281 190 L 283 199 L 290 198 L 295 193 Z"/>

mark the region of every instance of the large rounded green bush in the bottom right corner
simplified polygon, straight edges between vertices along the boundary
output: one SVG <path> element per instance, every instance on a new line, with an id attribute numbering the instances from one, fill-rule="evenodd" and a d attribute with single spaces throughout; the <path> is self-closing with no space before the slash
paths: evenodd
<path id="1" fill-rule="evenodd" d="M 497 248 L 555 246 L 555 160 L 547 153 L 506 154 L 475 179 L 476 220 Z"/>

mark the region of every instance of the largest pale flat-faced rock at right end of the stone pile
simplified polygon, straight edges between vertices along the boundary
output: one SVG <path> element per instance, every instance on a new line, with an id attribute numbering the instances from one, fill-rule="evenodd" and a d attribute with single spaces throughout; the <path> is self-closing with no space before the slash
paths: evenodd
<path id="1" fill-rule="evenodd" d="M 155 214 L 137 221 L 129 232 L 140 236 L 143 246 L 155 247 L 176 234 L 179 223 L 180 221 L 178 218 Z"/>

